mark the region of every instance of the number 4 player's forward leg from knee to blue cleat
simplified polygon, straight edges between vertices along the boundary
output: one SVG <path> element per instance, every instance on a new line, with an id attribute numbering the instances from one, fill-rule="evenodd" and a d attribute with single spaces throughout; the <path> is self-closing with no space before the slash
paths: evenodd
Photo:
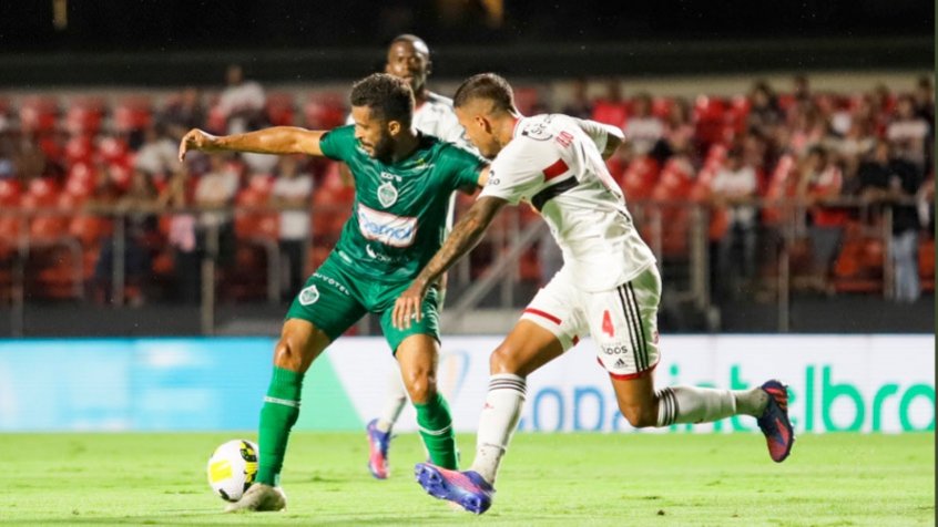
<path id="1" fill-rule="evenodd" d="M 427 493 L 456 503 L 470 513 L 488 510 L 501 458 L 521 416 L 526 378 L 562 353 L 563 345 L 550 331 L 528 320 L 514 326 L 490 359 L 489 392 L 479 418 L 472 467 L 457 472 L 417 464 L 417 480 Z"/>

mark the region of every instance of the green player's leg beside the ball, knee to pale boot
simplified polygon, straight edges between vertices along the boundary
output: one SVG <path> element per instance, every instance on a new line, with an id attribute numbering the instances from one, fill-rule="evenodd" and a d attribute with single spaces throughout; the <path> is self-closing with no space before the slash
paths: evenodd
<path id="1" fill-rule="evenodd" d="M 271 386 L 261 410 L 257 477 L 239 500 L 225 508 L 226 513 L 282 510 L 286 507 L 286 496 L 278 485 L 287 440 L 299 416 L 303 375 L 328 344 L 326 333 L 310 322 L 302 319 L 284 322 L 281 339 L 274 348 Z"/>

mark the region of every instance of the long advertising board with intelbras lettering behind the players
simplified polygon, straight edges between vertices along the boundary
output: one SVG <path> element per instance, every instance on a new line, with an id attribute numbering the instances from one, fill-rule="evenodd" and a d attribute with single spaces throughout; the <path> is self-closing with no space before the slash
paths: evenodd
<path id="1" fill-rule="evenodd" d="M 443 339 L 439 382 L 472 432 L 499 337 Z M 0 341 L 0 432 L 256 428 L 271 338 Z M 660 385 L 791 386 L 799 433 L 935 430 L 934 335 L 665 335 Z M 585 341 L 529 379 L 526 432 L 635 432 Z M 297 430 L 356 431 L 377 415 L 395 363 L 379 338 L 345 338 L 316 361 Z M 412 409 L 398 428 L 415 431 Z M 642 433 L 753 432 L 748 417 Z"/>

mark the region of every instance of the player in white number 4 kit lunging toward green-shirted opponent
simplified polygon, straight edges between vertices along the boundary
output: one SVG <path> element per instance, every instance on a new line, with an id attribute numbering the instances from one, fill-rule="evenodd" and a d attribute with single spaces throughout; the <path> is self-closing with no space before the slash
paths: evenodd
<path id="1" fill-rule="evenodd" d="M 526 202 L 544 218 L 563 252 L 563 268 L 541 289 L 491 355 L 476 458 L 467 472 L 420 463 L 431 495 L 481 514 L 491 505 L 499 464 L 518 425 L 526 378 L 591 334 L 609 372 L 619 410 L 632 426 L 757 417 L 769 455 L 784 461 L 794 442 L 787 388 L 768 381 L 745 391 L 671 386 L 655 391 L 661 278 L 639 237 L 621 190 L 603 162 L 621 131 L 560 114 L 521 116 L 508 82 L 485 73 L 463 82 L 456 114 L 479 152 L 493 158 L 489 180 L 437 255 L 397 300 L 394 323 L 419 320 L 416 309 L 440 273 L 481 239 L 506 204 Z"/>

